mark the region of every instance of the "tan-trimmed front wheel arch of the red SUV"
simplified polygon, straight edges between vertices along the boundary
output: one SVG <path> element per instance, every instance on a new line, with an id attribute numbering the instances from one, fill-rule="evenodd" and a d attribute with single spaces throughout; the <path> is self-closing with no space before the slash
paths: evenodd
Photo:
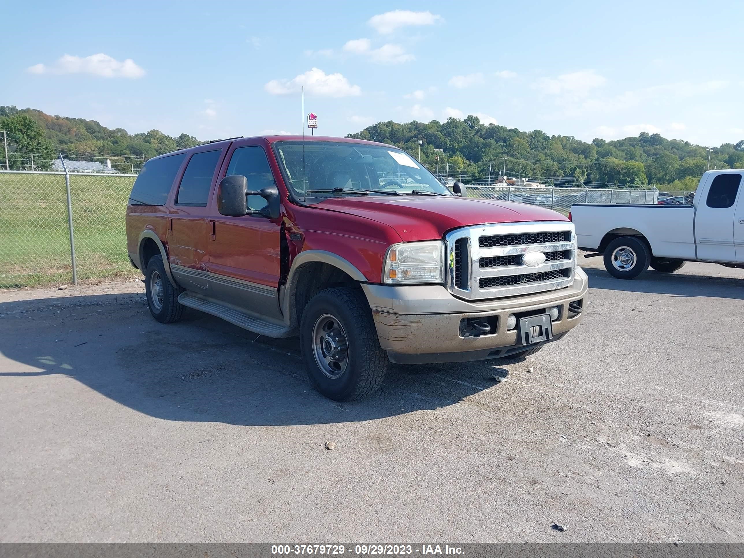
<path id="1" fill-rule="evenodd" d="M 292 261 L 280 293 L 284 321 L 290 327 L 298 327 L 305 305 L 323 289 L 341 285 L 359 287 L 367 281 L 359 269 L 338 254 L 324 250 L 301 252 Z"/>

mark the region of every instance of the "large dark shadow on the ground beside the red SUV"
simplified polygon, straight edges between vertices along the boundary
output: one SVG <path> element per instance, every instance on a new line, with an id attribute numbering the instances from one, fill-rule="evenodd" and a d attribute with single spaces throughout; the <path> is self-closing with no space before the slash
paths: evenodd
<path id="1" fill-rule="evenodd" d="M 391 365 L 371 397 L 336 403 L 310 385 L 297 339 L 258 337 L 196 311 L 159 324 L 144 294 L 1 303 L 0 324 L 0 389 L 23 378 L 29 390 L 43 390 L 44 376 L 61 374 L 164 420 L 356 422 L 443 408 L 500 387 L 491 378 L 496 362 Z"/>

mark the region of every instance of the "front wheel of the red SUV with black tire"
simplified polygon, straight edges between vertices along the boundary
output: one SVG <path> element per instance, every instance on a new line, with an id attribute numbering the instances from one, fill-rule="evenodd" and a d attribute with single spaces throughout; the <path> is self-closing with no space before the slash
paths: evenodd
<path id="1" fill-rule="evenodd" d="M 302 359 L 310 382 L 336 401 L 366 397 L 382 384 L 388 356 L 367 302 L 352 289 L 318 292 L 302 312 Z"/>

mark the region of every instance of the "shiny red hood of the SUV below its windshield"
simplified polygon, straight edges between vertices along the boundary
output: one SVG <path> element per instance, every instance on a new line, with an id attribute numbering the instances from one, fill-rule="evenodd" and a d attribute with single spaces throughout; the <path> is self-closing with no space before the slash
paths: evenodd
<path id="1" fill-rule="evenodd" d="M 519 202 L 458 196 L 356 196 L 326 199 L 314 208 L 390 225 L 404 242 L 441 238 L 453 228 L 487 223 L 568 221 L 550 209 Z"/>

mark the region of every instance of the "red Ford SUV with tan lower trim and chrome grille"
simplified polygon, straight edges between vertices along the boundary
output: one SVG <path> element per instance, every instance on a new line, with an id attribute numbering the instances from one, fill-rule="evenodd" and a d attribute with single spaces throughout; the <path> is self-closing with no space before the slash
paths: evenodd
<path id="1" fill-rule="evenodd" d="M 353 400 L 388 362 L 526 356 L 579 323 L 574 225 L 464 189 L 371 141 L 217 141 L 147 161 L 129 257 L 156 320 L 190 307 L 298 335 L 315 388 Z"/>

